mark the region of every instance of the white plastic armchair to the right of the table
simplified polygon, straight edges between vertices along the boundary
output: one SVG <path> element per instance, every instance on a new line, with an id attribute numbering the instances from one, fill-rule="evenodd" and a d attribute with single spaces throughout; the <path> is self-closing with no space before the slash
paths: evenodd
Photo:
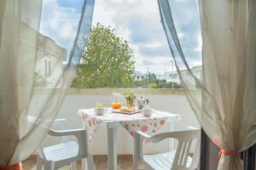
<path id="1" fill-rule="evenodd" d="M 166 138 L 177 139 L 177 150 L 172 150 L 166 153 L 143 155 L 144 139 L 147 139 L 152 143 L 158 143 Z M 194 139 L 196 139 L 195 151 L 193 157 L 190 157 L 189 150 Z M 143 165 L 150 170 L 195 170 L 199 166 L 200 141 L 200 129 L 160 133 L 152 137 L 139 131 L 135 134 L 133 169 L 137 169 L 139 161 L 142 161 Z"/>

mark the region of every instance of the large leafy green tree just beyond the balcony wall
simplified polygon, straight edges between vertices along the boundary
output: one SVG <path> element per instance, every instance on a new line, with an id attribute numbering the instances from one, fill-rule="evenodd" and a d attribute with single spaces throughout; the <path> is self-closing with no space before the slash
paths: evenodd
<path id="1" fill-rule="evenodd" d="M 129 43 L 110 26 L 97 23 L 90 31 L 75 88 L 125 88 L 131 86 L 135 60 Z"/>

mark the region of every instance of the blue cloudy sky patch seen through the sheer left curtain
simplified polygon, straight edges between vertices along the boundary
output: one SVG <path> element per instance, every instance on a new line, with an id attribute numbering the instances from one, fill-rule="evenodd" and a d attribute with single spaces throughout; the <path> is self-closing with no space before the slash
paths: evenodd
<path id="1" fill-rule="evenodd" d="M 75 5 L 67 5 L 69 0 L 44 0 L 40 33 L 50 37 L 62 48 L 70 50 L 79 26 L 83 0 L 75 0 Z"/>

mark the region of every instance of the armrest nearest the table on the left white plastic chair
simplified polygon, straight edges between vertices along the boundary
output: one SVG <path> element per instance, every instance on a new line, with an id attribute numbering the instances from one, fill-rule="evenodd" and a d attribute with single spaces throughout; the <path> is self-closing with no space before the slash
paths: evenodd
<path id="1" fill-rule="evenodd" d="M 72 129 L 72 130 L 61 130 L 55 131 L 49 129 L 49 135 L 51 136 L 75 136 L 79 142 L 79 155 L 87 156 L 88 154 L 88 142 L 87 142 L 87 133 L 85 129 Z"/>

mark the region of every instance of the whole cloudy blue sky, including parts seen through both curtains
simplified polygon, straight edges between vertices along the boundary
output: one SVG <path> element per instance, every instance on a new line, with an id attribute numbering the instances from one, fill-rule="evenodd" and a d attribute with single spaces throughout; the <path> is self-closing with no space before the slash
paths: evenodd
<path id="1" fill-rule="evenodd" d="M 71 48 L 83 0 L 44 0 L 41 32 Z M 170 0 L 177 34 L 189 65 L 201 65 L 201 30 L 197 0 Z M 93 23 L 112 26 L 130 42 L 136 71 L 172 71 L 172 54 L 160 23 L 157 0 L 96 0 Z"/>

